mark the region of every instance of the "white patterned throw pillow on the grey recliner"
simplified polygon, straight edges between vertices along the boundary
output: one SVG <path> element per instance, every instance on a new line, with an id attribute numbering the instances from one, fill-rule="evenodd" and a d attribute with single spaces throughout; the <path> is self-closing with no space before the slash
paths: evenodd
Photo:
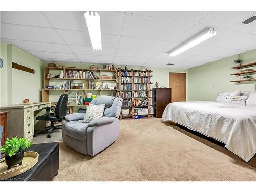
<path id="1" fill-rule="evenodd" d="M 83 123 L 89 123 L 90 121 L 103 117 L 106 104 L 89 104 L 86 108 L 86 115 L 84 115 Z"/>

